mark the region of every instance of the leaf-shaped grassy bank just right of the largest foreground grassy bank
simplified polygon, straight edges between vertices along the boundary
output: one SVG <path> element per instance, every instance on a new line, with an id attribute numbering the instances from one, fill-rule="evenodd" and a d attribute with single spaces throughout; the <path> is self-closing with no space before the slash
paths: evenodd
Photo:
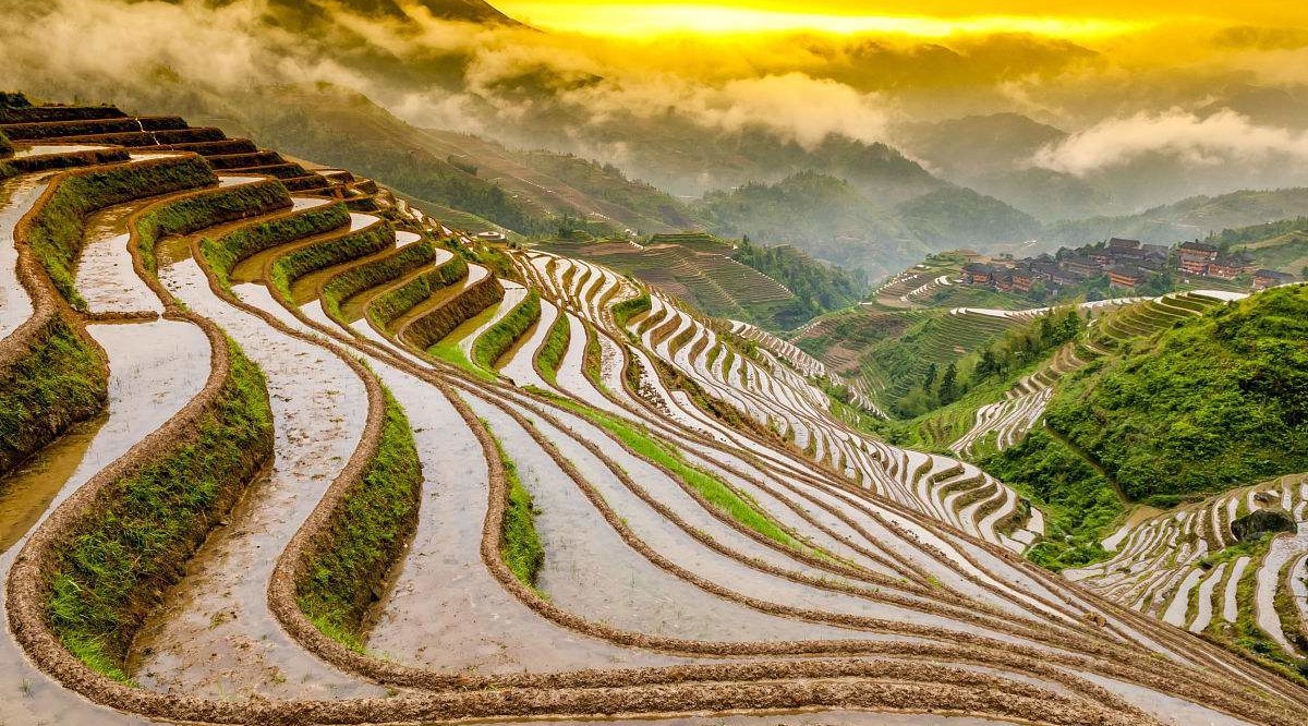
<path id="1" fill-rule="evenodd" d="M 313 543 L 296 583 L 300 610 L 327 637 L 362 651 L 362 625 L 391 568 L 417 526 L 422 467 L 413 430 L 386 391 L 386 423 L 377 457 Z"/>

